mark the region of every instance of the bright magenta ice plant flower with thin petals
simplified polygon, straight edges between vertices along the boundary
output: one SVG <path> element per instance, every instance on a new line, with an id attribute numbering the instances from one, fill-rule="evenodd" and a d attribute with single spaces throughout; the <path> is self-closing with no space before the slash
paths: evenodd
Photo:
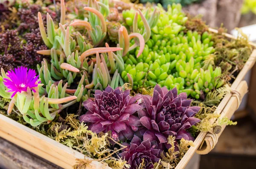
<path id="1" fill-rule="evenodd" d="M 38 75 L 36 76 L 33 69 L 28 71 L 26 67 L 21 66 L 20 68 L 15 68 L 15 72 L 13 70 L 8 71 L 6 76 L 9 78 L 4 78 L 3 83 L 9 89 L 7 92 L 13 92 L 11 97 L 14 97 L 17 92 L 26 92 L 28 87 L 35 92 L 33 88 L 38 86 L 35 83 L 38 80 Z"/>

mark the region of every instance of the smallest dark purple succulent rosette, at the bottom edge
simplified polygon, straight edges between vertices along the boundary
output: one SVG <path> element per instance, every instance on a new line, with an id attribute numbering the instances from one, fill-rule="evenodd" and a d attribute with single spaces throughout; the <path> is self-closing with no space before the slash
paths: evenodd
<path id="1" fill-rule="evenodd" d="M 144 160 L 145 169 L 153 169 L 154 163 L 157 163 L 161 158 L 161 150 L 155 149 L 155 145 L 152 145 L 149 140 L 141 142 L 140 138 L 136 135 L 131 140 L 130 144 L 127 145 L 120 155 L 125 159 L 128 164 L 131 165 L 130 169 L 137 169 Z"/>

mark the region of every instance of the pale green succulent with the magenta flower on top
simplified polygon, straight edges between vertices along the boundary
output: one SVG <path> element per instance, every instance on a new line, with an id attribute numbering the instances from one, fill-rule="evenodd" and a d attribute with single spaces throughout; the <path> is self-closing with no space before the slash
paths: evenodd
<path id="1" fill-rule="evenodd" d="M 42 84 L 40 84 L 35 70 L 29 69 L 28 71 L 27 68 L 21 66 L 15 69 L 15 72 L 9 71 L 5 73 L 2 68 L 1 74 L 0 96 L 12 98 L 7 113 L 11 113 L 13 107 L 16 106 L 21 115 L 23 115 L 23 119 L 32 126 L 38 126 L 43 122 L 52 121 L 61 110 L 77 101 L 76 99 L 78 97 L 71 95 L 58 98 L 58 87 L 55 88 L 55 92 L 49 92 L 54 95 L 53 98 L 40 97 L 38 88 Z M 50 95 L 48 94 L 48 96 Z M 61 103 L 66 102 L 69 103 L 61 105 Z"/>

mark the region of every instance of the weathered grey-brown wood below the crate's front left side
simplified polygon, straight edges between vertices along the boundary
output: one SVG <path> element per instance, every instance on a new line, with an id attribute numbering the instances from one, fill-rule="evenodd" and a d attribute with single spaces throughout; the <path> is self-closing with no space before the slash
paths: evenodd
<path id="1" fill-rule="evenodd" d="M 1 169 L 62 169 L 0 137 Z"/>

